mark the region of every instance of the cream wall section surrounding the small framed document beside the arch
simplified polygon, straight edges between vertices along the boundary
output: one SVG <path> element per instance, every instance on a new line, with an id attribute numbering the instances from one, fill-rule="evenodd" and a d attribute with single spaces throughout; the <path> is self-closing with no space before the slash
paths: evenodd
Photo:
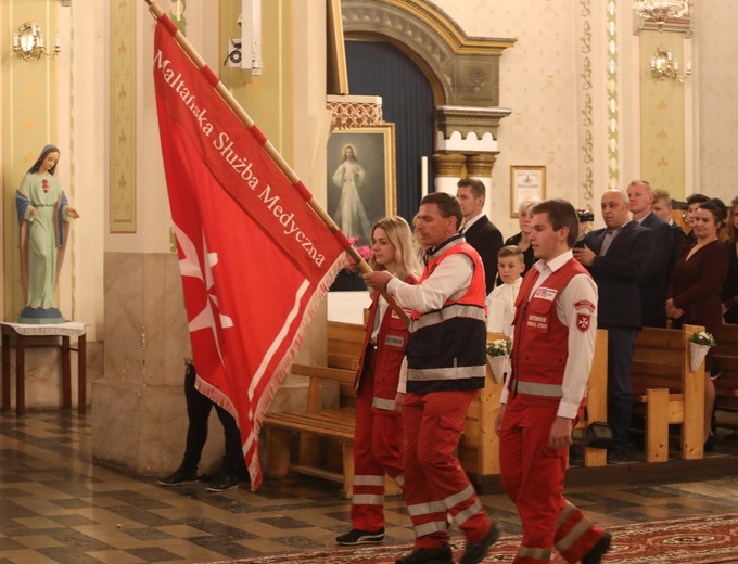
<path id="1" fill-rule="evenodd" d="M 500 57 L 500 106 L 512 114 L 497 130 L 499 154 L 487 213 L 504 235 L 510 218 L 510 166 L 546 166 L 547 196 L 577 202 L 576 2 L 549 0 L 435 0 L 469 36 L 510 37 Z"/>

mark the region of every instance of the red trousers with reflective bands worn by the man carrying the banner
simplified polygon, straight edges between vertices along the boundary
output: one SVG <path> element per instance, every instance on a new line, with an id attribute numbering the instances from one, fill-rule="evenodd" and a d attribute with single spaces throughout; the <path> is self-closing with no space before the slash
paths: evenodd
<path id="1" fill-rule="evenodd" d="M 468 542 L 492 526 L 474 488 L 453 452 L 475 389 L 407 394 L 403 402 L 405 501 L 415 527 L 415 548 L 448 542 L 450 512 Z"/>

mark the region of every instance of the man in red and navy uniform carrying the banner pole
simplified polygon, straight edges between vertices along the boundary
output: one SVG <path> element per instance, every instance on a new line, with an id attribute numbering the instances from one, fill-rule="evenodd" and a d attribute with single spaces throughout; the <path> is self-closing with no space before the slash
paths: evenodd
<path id="1" fill-rule="evenodd" d="M 467 409 L 484 387 L 486 361 L 484 267 L 457 233 L 461 218 L 454 196 L 429 194 L 415 222 L 416 239 L 425 248 L 419 284 L 382 271 L 364 277 L 412 310 L 402 412 L 405 500 L 416 542 L 397 564 L 454 564 L 447 513 L 467 538 L 461 564 L 482 562 L 499 536 L 454 456 Z"/>

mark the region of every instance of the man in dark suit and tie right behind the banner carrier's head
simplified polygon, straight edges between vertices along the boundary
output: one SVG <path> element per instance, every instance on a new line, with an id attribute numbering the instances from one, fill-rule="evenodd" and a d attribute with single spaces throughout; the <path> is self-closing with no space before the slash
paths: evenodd
<path id="1" fill-rule="evenodd" d="M 462 178 L 457 183 L 456 197 L 461 204 L 461 233 L 482 257 L 487 294 L 495 287 L 497 253 L 502 248 L 502 233 L 484 215 L 484 184 L 474 178 Z"/>

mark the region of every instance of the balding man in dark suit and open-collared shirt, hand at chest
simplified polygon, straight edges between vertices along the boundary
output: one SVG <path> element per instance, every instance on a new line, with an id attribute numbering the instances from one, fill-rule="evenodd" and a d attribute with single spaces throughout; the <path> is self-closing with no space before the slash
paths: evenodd
<path id="1" fill-rule="evenodd" d="M 622 190 L 602 194 L 602 218 L 606 228 L 587 233 L 574 256 L 597 283 L 597 325 L 608 331 L 608 422 L 613 430 L 608 462 L 619 462 L 625 459 L 633 415 L 629 372 L 641 328 L 639 282 L 653 256 L 656 235 L 631 219 Z"/>

